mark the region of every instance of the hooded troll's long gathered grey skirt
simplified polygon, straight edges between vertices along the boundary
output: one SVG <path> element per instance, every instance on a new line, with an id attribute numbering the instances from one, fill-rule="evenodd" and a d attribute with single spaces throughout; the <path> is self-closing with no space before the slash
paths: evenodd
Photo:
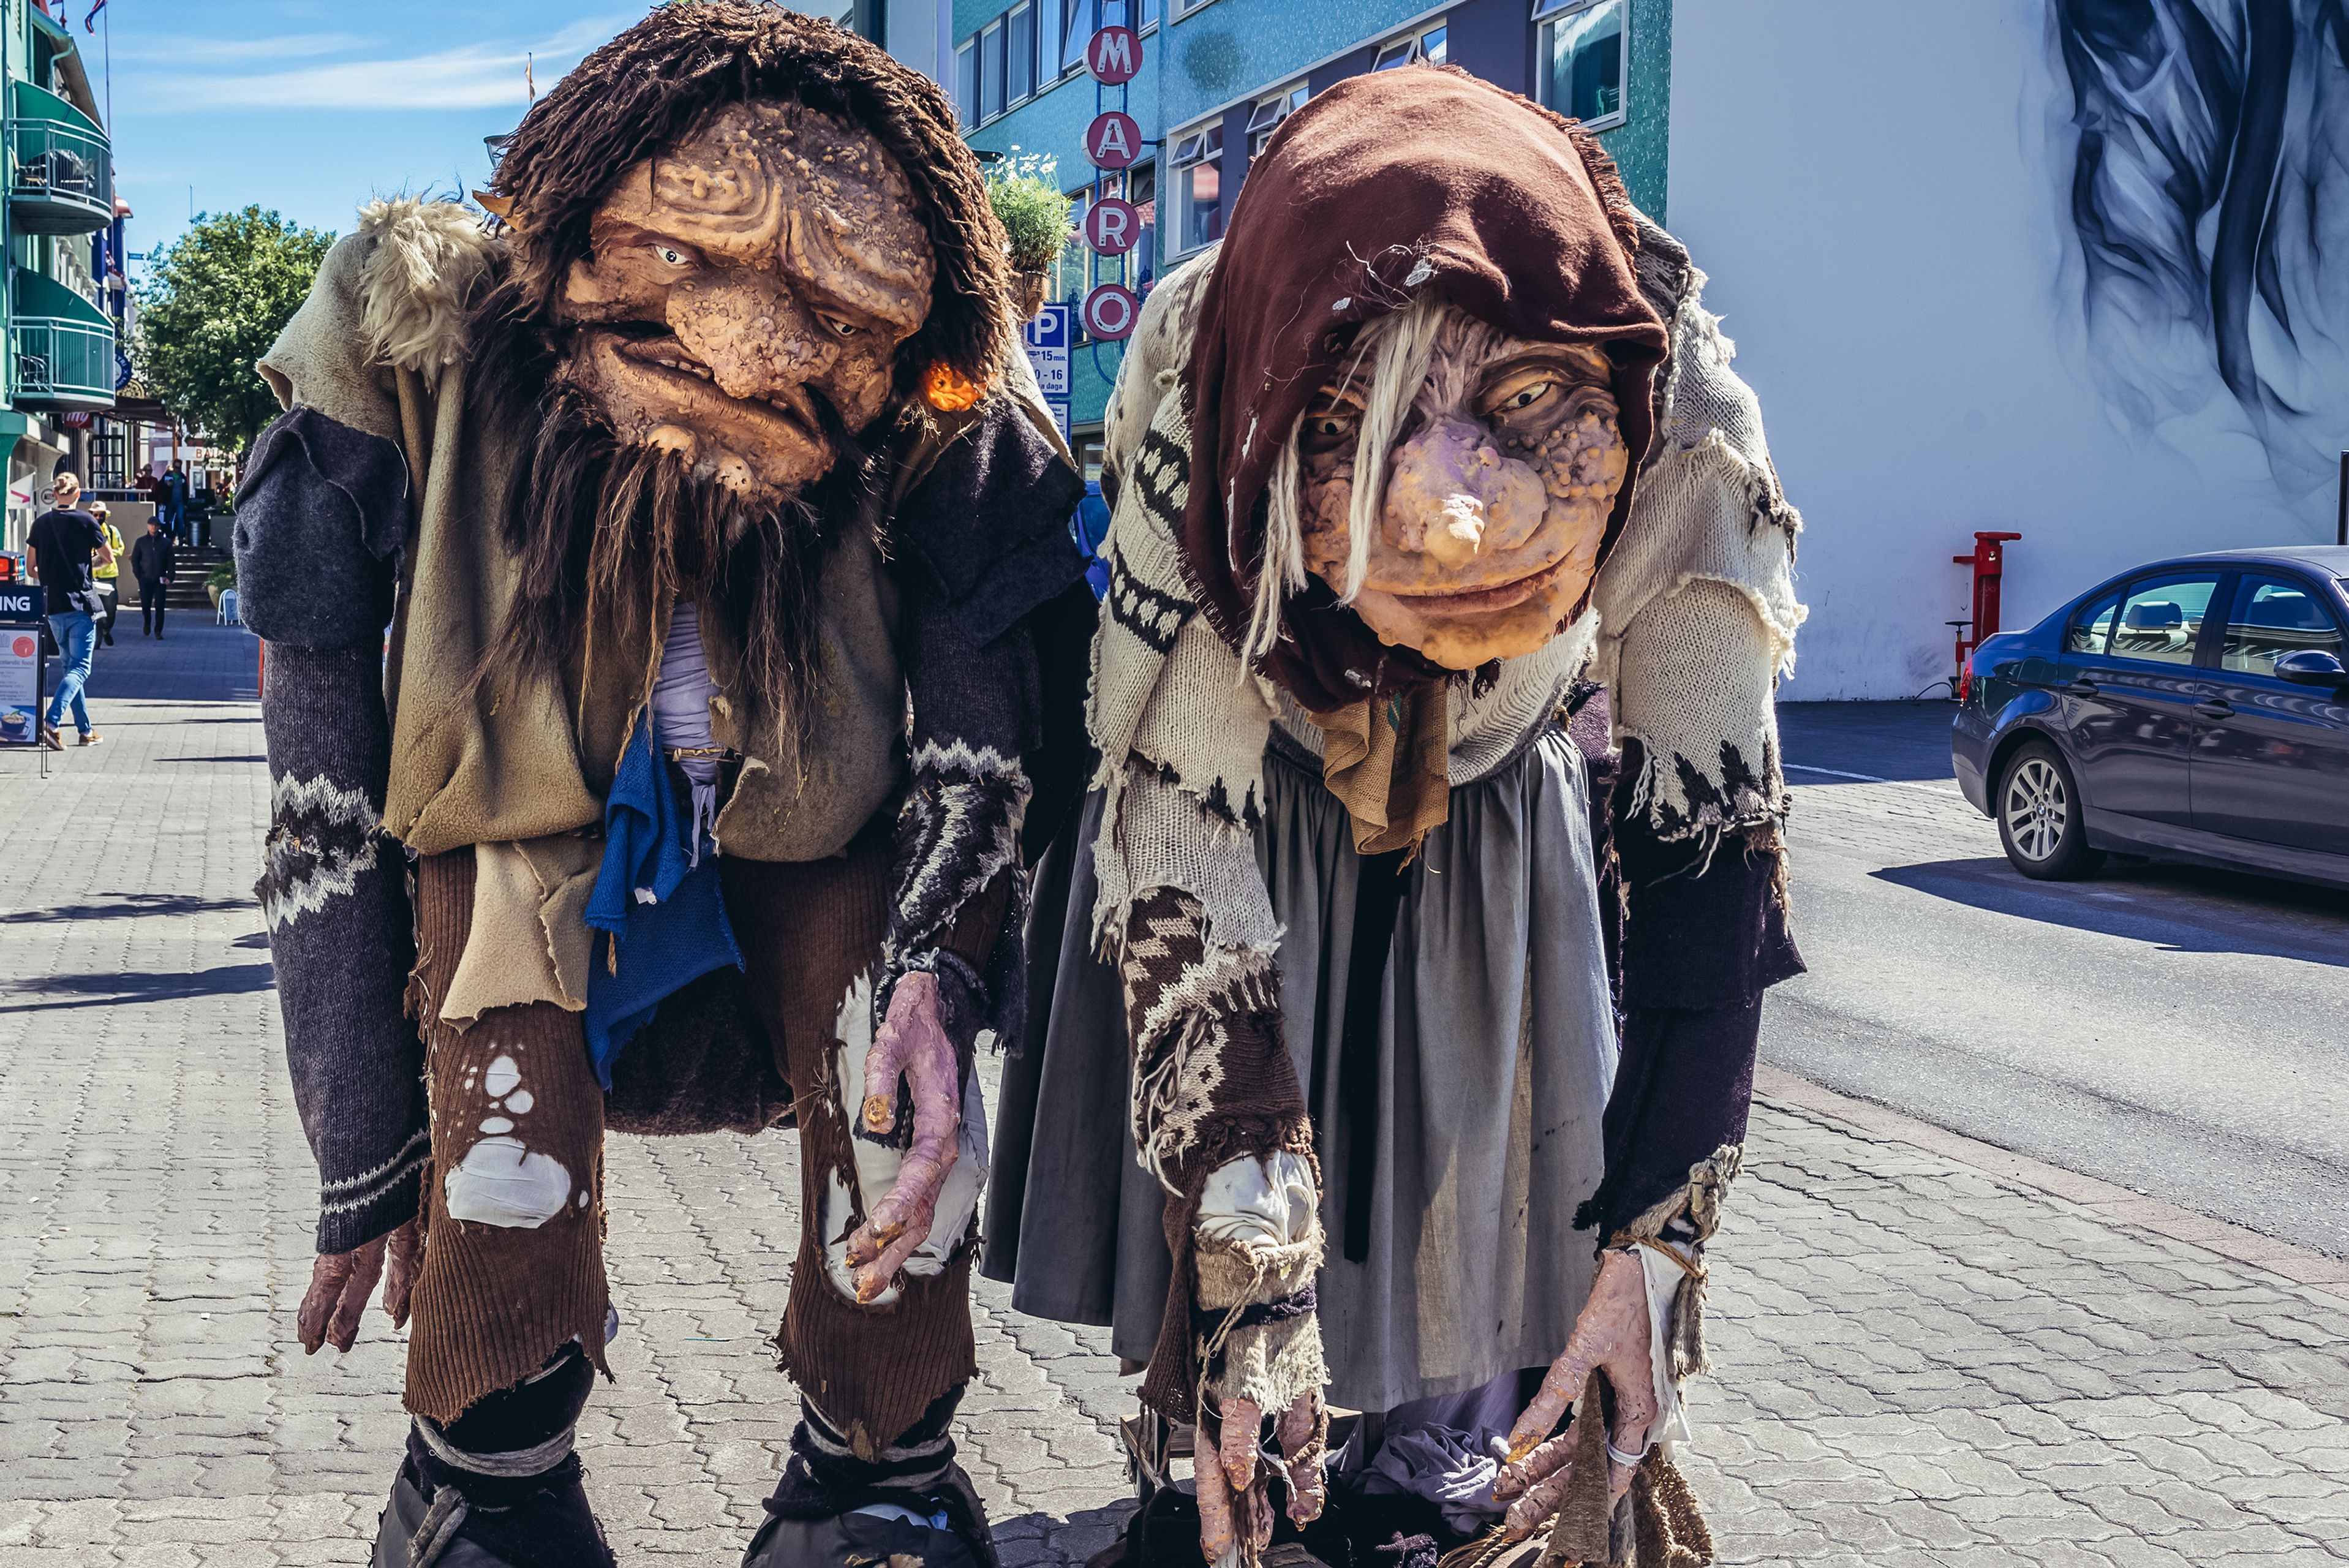
<path id="1" fill-rule="evenodd" d="M 1257 857 L 1287 927 L 1283 1028 L 1332 1237 L 1318 1282 L 1330 1399 L 1391 1411 L 1546 1366 L 1590 1291 L 1595 1242 L 1574 1209 L 1600 1181 L 1616 1061 L 1581 753 L 1543 730 L 1452 791 L 1449 822 L 1402 873 L 1377 1061 L 1358 1028 L 1351 1094 L 1362 859 L 1311 758 L 1276 739 L 1264 782 Z M 1022 1312 L 1109 1324 L 1116 1352 L 1142 1361 L 1165 1310 L 1165 1192 L 1125 1122 L 1118 974 L 1088 951 L 1099 815 L 1095 793 L 1038 869 L 1029 1030 L 1003 1070 L 980 1272 L 1010 1282 Z M 1367 1204 L 1360 1261 L 1341 1244 L 1348 1204 Z"/>

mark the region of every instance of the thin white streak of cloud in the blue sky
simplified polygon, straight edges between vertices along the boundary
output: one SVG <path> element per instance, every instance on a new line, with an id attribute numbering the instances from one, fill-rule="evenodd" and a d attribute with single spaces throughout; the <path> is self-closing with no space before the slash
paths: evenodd
<path id="1" fill-rule="evenodd" d="M 143 110 L 446 110 L 529 103 L 524 59 L 536 63 L 538 92 L 578 63 L 634 16 L 599 16 L 529 42 L 463 45 L 392 59 L 324 61 L 298 70 L 171 73 L 139 82 Z M 312 35 L 319 38 L 319 35 Z M 331 52 L 331 49 L 327 49 Z M 280 56 L 282 59 L 282 56 Z"/>

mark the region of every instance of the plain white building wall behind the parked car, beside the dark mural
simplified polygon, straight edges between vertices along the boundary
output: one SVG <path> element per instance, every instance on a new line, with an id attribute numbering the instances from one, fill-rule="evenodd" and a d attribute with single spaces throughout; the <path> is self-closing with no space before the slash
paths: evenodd
<path id="1" fill-rule="evenodd" d="M 2215 371 L 2156 430 L 2098 390 L 2069 115 L 2041 0 L 1675 5 L 1670 228 L 1804 514 L 1785 699 L 1947 676 L 1976 528 L 2025 535 L 2006 629 L 2163 554 L 2333 542 Z"/>

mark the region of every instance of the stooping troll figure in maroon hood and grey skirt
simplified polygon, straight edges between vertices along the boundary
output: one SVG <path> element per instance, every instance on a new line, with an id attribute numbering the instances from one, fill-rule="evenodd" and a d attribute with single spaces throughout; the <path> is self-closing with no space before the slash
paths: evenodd
<path id="1" fill-rule="evenodd" d="M 1198 1427 L 1128 1561 L 1710 1561 L 1665 1439 L 1799 969 L 1802 608 L 1701 284 L 1595 138 L 1412 66 L 1144 307 L 984 1258 Z"/>

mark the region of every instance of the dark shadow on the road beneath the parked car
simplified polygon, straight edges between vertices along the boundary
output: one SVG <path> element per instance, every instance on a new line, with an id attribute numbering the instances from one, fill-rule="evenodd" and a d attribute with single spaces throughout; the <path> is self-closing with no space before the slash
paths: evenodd
<path id="1" fill-rule="evenodd" d="M 2302 883 L 2154 861 L 2119 864 L 2084 883 L 2034 883 L 2004 857 L 1886 866 L 1870 876 L 2166 953 L 2255 953 L 2349 969 L 2349 897 Z"/>

